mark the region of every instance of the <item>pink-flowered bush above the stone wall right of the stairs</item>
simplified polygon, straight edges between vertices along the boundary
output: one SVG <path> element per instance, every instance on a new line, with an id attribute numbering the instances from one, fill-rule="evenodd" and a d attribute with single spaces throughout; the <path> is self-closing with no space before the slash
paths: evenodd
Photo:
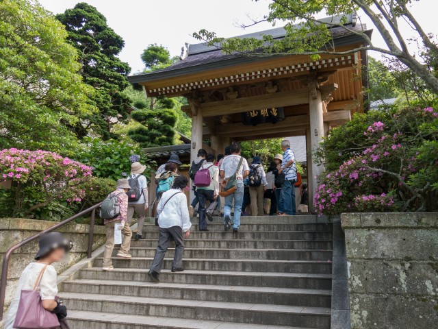
<path id="1" fill-rule="evenodd" d="M 320 177 L 315 210 L 329 217 L 350 211 L 425 210 L 434 182 L 413 184 L 416 173 L 430 166 L 418 156 L 424 138 L 418 128 L 437 117 L 433 108 L 417 109 L 394 114 L 388 124 L 370 125 L 363 132 L 368 147 Z"/>

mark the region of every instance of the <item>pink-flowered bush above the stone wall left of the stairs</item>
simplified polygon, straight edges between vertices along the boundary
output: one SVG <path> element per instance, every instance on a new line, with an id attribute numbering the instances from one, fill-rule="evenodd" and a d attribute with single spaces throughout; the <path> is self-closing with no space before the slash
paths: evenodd
<path id="1" fill-rule="evenodd" d="M 16 193 L 15 208 L 21 207 L 26 188 L 38 188 L 43 200 L 25 210 L 47 206 L 53 200 L 81 202 L 83 184 L 92 177 L 92 168 L 49 151 L 3 149 L 0 151 L 0 181 L 12 180 Z"/>

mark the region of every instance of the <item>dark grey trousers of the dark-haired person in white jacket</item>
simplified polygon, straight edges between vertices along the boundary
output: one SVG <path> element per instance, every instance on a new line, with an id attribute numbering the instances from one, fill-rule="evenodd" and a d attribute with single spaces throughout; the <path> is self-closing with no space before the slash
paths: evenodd
<path id="1" fill-rule="evenodd" d="M 184 238 L 183 229 L 179 226 L 172 226 L 171 228 L 159 228 L 158 246 L 155 250 L 155 257 L 153 258 L 151 270 L 161 273 L 164 255 L 169 247 L 170 238 L 175 240 L 175 258 L 173 258 L 172 267 L 181 269 L 183 267 L 183 253 L 184 253 Z"/>

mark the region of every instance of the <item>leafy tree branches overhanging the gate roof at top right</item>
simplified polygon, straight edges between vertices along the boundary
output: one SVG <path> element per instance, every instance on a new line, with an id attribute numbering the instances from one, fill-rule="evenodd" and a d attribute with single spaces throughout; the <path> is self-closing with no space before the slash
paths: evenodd
<path id="1" fill-rule="evenodd" d="M 259 0 L 255 0 L 259 1 Z M 409 67 L 430 86 L 435 93 L 438 93 L 437 72 L 430 66 L 424 64 L 422 57 L 438 57 L 438 44 L 436 37 L 426 32 L 421 23 L 409 10 L 411 5 L 421 5 L 421 1 L 412 0 L 272 0 L 269 5 L 269 13 L 261 20 L 256 20 L 251 25 L 268 21 L 285 22 L 286 36 L 283 39 L 274 39 L 272 36 L 257 38 L 218 38 L 214 32 L 203 29 L 194 36 L 206 40 L 210 45 L 222 47 L 227 53 L 240 51 L 255 56 L 255 51 L 260 48 L 266 53 L 289 53 L 309 54 L 318 58 L 320 54 L 344 55 L 354 53 L 362 49 L 374 50 L 388 56 L 398 58 L 400 62 Z M 370 36 L 361 29 L 352 29 L 346 25 L 347 16 L 351 14 L 359 16 L 359 10 L 374 23 L 377 32 L 381 34 L 386 47 L 378 47 L 373 44 Z M 340 15 L 340 21 L 333 19 L 320 20 L 316 15 L 325 12 L 327 16 Z M 408 48 L 409 40 L 406 34 L 400 30 L 400 21 L 407 21 L 415 33 L 415 38 L 420 43 L 422 56 L 413 53 Z M 295 23 L 300 22 L 300 25 Z M 248 25 L 242 25 L 246 27 Z M 333 45 L 330 29 L 338 27 L 346 32 L 355 34 L 363 39 L 364 46 L 357 47 L 350 51 L 337 51 Z M 259 56 L 262 56 L 259 54 Z M 435 66 L 436 69 L 436 66 Z"/>

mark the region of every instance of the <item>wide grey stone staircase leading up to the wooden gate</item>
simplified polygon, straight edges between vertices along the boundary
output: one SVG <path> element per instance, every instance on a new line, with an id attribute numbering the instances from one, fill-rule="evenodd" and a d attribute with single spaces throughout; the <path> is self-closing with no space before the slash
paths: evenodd
<path id="1" fill-rule="evenodd" d="M 194 219 L 196 221 L 196 219 Z M 131 260 L 102 259 L 62 284 L 70 327 L 330 328 L 332 226 L 314 216 L 242 217 L 241 232 L 210 232 L 186 241 L 185 271 L 171 273 L 173 249 L 159 284 L 146 273 L 155 254 L 157 228 L 145 226 L 133 241 Z"/>

